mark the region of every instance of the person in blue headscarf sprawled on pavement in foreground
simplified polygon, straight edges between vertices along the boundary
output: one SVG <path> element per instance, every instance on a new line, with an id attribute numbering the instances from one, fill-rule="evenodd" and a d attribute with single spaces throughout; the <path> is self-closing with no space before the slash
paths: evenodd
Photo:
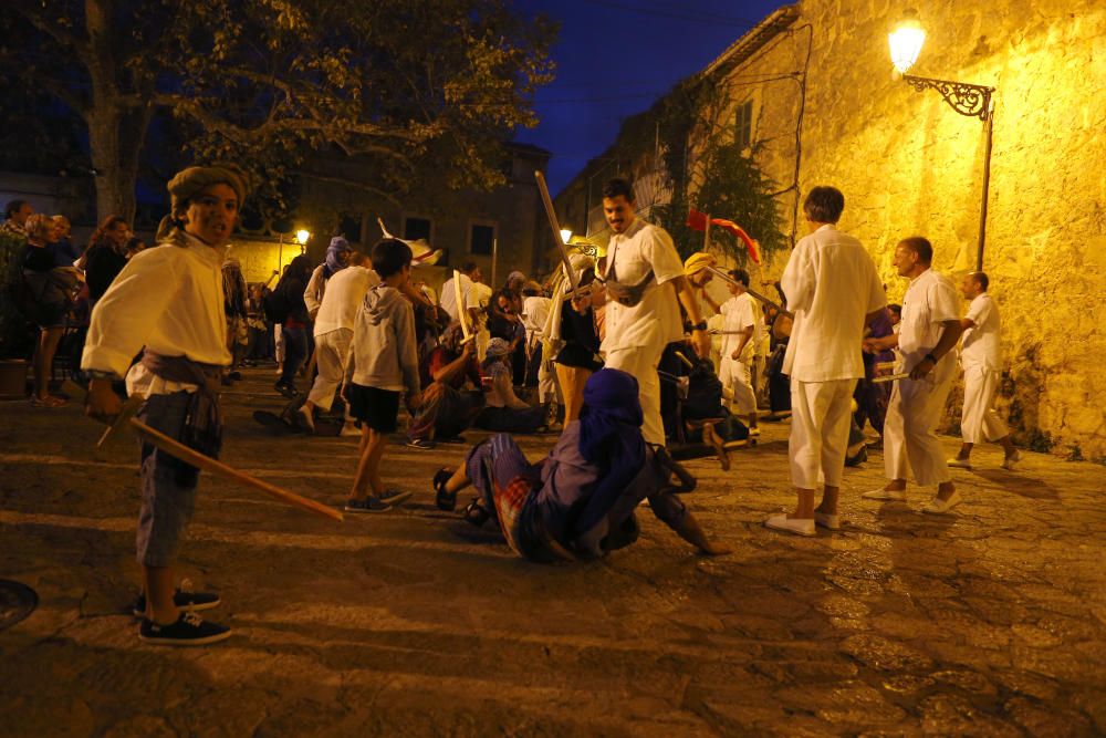
<path id="1" fill-rule="evenodd" d="M 457 493 L 472 485 L 480 497 L 466 510 L 468 520 L 495 520 L 513 551 L 551 562 L 629 545 L 639 530 L 634 510 L 648 499 L 653 513 L 700 551 L 729 553 L 707 538 L 678 496 L 695 480 L 664 448 L 645 443 L 641 422 L 637 380 L 601 370 L 584 387 L 580 419 L 565 426 L 549 457 L 530 464 L 511 436 L 492 436 L 463 466 L 438 471 L 438 507 L 453 509 Z"/>

